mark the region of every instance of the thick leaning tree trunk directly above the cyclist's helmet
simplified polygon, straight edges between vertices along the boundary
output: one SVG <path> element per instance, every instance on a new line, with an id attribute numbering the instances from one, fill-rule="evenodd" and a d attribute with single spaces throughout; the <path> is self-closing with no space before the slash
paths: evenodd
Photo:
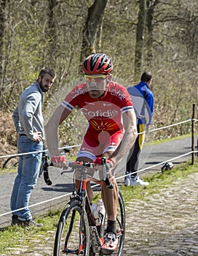
<path id="1" fill-rule="evenodd" d="M 103 13 L 108 0 L 95 0 L 88 9 L 87 20 L 83 29 L 82 52 L 80 61 L 90 53 L 95 53 L 95 42 L 99 26 L 102 26 Z M 100 29 L 101 31 L 101 29 Z"/>

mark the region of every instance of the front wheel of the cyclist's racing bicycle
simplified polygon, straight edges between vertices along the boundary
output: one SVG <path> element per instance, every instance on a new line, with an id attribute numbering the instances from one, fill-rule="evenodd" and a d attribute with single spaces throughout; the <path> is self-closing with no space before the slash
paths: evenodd
<path id="1" fill-rule="evenodd" d="M 80 239 L 83 241 L 81 246 Z M 89 222 L 79 200 L 71 200 L 60 215 L 53 255 L 90 256 Z"/>

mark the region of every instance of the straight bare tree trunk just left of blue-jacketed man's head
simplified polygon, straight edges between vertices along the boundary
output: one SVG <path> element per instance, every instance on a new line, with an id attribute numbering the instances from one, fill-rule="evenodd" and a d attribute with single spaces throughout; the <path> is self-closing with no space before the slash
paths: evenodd
<path id="1" fill-rule="evenodd" d="M 135 42 L 135 78 L 140 77 L 143 58 L 143 37 L 146 26 L 146 0 L 139 1 L 138 24 Z"/>

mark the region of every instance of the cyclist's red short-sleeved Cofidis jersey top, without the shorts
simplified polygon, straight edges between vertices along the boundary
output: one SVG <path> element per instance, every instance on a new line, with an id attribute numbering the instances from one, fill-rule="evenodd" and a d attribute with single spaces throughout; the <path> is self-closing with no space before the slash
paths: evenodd
<path id="1" fill-rule="evenodd" d="M 133 109 L 127 89 L 112 81 L 97 99 L 90 97 L 86 83 L 79 84 L 67 95 L 62 105 L 71 111 L 78 106 L 95 132 L 123 129 L 122 113 Z"/>

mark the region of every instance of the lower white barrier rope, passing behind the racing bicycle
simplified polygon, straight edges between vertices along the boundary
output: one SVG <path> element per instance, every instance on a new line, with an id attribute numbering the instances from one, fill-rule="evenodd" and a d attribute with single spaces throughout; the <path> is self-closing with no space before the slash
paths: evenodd
<path id="1" fill-rule="evenodd" d="M 185 157 L 185 156 L 187 156 L 188 154 L 197 153 L 197 152 L 198 152 L 198 151 L 190 151 L 190 152 L 188 152 L 188 153 L 186 153 L 186 154 L 182 154 L 181 156 L 174 157 L 174 158 L 168 159 L 168 160 L 166 160 L 166 161 L 159 162 L 159 163 L 156 164 L 156 165 L 151 165 L 151 166 L 149 166 L 149 167 L 143 168 L 142 170 L 138 170 L 138 171 L 136 171 L 135 173 L 140 173 L 140 172 L 142 172 L 143 170 L 148 170 L 148 169 L 151 169 L 152 167 L 156 167 L 156 166 L 158 166 L 158 165 L 163 165 L 163 164 L 165 164 L 165 162 L 170 162 L 170 161 L 173 161 L 173 160 L 175 160 L 175 159 L 178 159 L 178 158 L 181 158 L 181 157 Z M 132 173 L 131 173 L 131 174 L 132 174 Z M 120 177 L 116 178 L 116 180 L 119 179 L 119 178 L 124 178 L 125 176 L 127 176 L 127 175 L 120 176 Z M 98 187 L 98 186 L 99 186 L 98 184 L 95 184 L 95 185 L 93 185 L 92 187 Z M 33 206 L 39 206 L 39 205 L 41 205 L 41 204 L 48 203 L 48 202 L 50 202 L 50 201 L 52 201 L 52 200 L 58 200 L 58 199 L 60 199 L 60 198 L 62 198 L 62 197 L 66 197 L 66 196 L 71 195 L 71 194 L 72 194 L 72 192 L 70 192 L 70 193 L 68 193 L 68 194 L 65 194 L 65 195 L 60 195 L 60 196 L 58 196 L 58 197 L 54 197 L 54 198 L 51 198 L 51 199 L 49 199 L 49 200 L 45 200 L 45 201 L 42 201 L 42 202 L 39 202 L 39 203 L 35 203 L 35 204 L 31 205 L 31 206 L 28 206 L 28 208 L 31 208 L 31 207 L 33 207 Z M 23 210 L 23 209 L 25 209 L 25 208 L 26 208 L 26 207 L 18 208 L 18 209 L 15 210 L 15 211 L 20 211 L 20 210 Z M 5 216 L 5 215 L 7 215 L 7 214 L 15 213 L 15 211 L 9 211 L 9 212 L 6 212 L 6 213 L 4 213 L 4 214 L 0 214 L 0 217 L 1 217 L 1 216 Z"/>

